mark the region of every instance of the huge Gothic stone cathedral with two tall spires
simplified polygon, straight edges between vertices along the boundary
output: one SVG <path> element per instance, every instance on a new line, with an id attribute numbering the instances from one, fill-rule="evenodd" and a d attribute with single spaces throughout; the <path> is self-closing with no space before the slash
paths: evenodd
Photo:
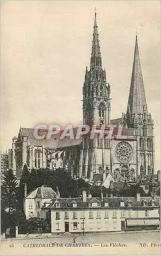
<path id="1" fill-rule="evenodd" d="M 85 71 L 83 84 L 83 124 L 105 127 L 103 136 L 93 139 L 37 140 L 33 128 L 20 127 L 9 150 L 9 167 L 20 178 L 24 164 L 29 169 L 64 168 L 73 178 L 93 181 L 96 174 L 121 174 L 130 180 L 155 173 L 153 120 L 148 112 L 139 47 L 135 39 L 127 112 L 110 119 L 110 84 L 102 67 L 100 42 L 95 13 L 90 68 Z M 109 135 L 113 127 L 112 136 Z M 74 129 L 76 133 L 77 127 Z M 43 130 L 41 130 L 43 133 Z"/>

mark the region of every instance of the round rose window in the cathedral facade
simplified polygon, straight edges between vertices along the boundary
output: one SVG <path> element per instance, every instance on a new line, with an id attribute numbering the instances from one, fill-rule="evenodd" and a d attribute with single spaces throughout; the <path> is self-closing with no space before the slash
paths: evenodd
<path id="1" fill-rule="evenodd" d="M 120 142 L 116 147 L 115 154 L 119 162 L 127 163 L 132 158 L 132 147 L 127 142 Z"/>

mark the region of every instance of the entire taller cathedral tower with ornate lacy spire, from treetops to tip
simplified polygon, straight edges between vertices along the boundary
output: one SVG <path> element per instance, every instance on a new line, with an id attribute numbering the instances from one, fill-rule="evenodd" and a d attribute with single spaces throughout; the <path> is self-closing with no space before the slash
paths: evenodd
<path id="1" fill-rule="evenodd" d="M 90 70 L 86 67 L 83 85 L 83 123 L 88 124 L 90 128 L 93 125 L 98 128 L 102 125 L 108 127 L 110 123 L 110 86 L 106 82 L 106 72 L 102 69 L 96 12 Z M 92 180 L 95 173 L 103 172 L 105 169 L 109 171 L 109 154 L 105 152 L 105 148 L 109 148 L 109 141 L 105 136 L 103 139 L 100 138 L 100 134 L 96 134 L 94 139 L 83 137 L 80 177 Z"/>

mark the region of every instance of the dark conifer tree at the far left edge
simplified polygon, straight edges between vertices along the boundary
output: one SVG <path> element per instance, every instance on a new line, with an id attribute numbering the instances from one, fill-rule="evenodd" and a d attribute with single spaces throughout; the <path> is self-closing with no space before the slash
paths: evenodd
<path id="1" fill-rule="evenodd" d="M 1 205 L 2 209 L 16 208 L 17 204 L 17 179 L 13 175 L 12 169 L 6 170 L 4 174 L 4 179 L 1 186 Z"/>

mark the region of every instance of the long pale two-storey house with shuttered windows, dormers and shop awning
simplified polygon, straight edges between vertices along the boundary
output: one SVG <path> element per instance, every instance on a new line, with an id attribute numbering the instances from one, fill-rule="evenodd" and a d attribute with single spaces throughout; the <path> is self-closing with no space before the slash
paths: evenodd
<path id="1" fill-rule="evenodd" d="M 158 229 L 159 197 L 57 198 L 44 204 L 41 218 L 51 218 L 51 232 L 100 232 Z"/>

